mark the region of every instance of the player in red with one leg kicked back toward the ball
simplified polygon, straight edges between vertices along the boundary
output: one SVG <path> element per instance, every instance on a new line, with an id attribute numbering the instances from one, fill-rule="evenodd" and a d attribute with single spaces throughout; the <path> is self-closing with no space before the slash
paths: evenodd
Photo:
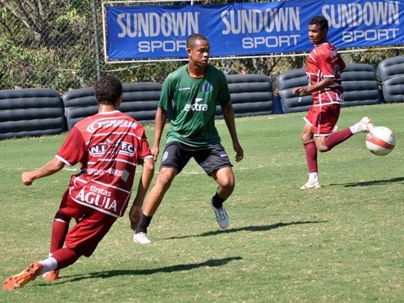
<path id="1" fill-rule="evenodd" d="M 306 75 L 309 85 L 293 89 L 296 95 L 313 96 L 313 106 L 304 118 L 302 143 L 306 152 L 309 180 L 300 188 L 320 188 L 318 179 L 317 152 L 328 152 L 353 134 L 369 131 L 373 124 L 369 117 L 347 129 L 335 132 L 343 98 L 341 73 L 345 62 L 335 46 L 327 41 L 329 24 L 322 16 L 309 22 L 309 39 L 314 44 L 306 60 Z"/>

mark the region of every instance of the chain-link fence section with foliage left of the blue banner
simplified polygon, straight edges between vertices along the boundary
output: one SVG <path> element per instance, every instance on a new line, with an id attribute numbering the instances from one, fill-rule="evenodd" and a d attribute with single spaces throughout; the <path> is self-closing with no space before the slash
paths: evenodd
<path id="1" fill-rule="evenodd" d="M 0 89 L 64 92 L 97 77 L 95 0 L 0 0 Z"/>

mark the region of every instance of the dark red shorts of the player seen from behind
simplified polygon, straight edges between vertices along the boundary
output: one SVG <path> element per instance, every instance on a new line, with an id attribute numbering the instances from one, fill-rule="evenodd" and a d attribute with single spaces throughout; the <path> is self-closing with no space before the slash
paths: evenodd
<path id="1" fill-rule="evenodd" d="M 77 224 L 68 231 L 66 247 L 80 252 L 86 257 L 93 254 L 95 248 L 116 221 L 116 217 L 76 203 L 67 192 L 62 198 L 59 212 L 77 221 Z"/>

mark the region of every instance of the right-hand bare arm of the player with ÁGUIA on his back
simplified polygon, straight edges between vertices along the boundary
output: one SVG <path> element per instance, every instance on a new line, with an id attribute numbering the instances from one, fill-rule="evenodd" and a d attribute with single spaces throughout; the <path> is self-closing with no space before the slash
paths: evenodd
<path id="1" fill-rule="evenodd" d="M 140 177 L 138 183 L 138 191 L 136 192 L 134 203 L 132 204 L 131 210 L 129 211 L 129 219 L 131 221 L 132 230 L 136 230 L 136 227 L 140 223 L 140 219 L 142 217 L 143 201 L 145 200 L 147 190 L 149 189 L 149 185 L 152 182 L 152 178 L 154 176 L 153 158 L 145 158 L 139 160 L 139 164 L 143 166 L 142 176 Z"/>

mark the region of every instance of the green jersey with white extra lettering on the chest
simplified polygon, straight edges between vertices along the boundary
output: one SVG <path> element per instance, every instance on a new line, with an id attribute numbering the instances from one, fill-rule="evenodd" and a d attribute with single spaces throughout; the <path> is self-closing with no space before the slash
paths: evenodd
<path id="1" fill-rule="evenodd" d="M 170 73 L 163 84 L 158 107 L 167 110 L 173 104 L 167 143 L 178 141 L 192 147 L 208 147 L 220 143 L 214 127 L 217 105 L 230 103 L 226 76 L 208 64 L 205 76 L 193 78 L 188 64 Z"/>

